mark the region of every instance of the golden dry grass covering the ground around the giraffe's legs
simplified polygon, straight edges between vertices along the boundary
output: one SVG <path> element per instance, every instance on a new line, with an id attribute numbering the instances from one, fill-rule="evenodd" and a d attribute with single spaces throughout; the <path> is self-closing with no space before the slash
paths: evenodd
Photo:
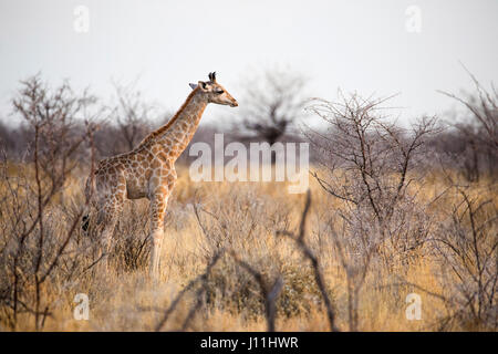
<path id="1" fill-rule="evenodd" d="M 15 168 L 10 167 L 10 173 Z M 277 237 L 278 230 L 295 231 L 299 227 L 304 195 L 289 195 L 284 184 L 191 183 L 188 170 L 179 169 L 179 179 L 168 206 L 165 241 L 157 281 L 147 277 L 148 242 L 146 239 L 147 202 L 128 202 L 114 233 L 112 267 L 97 273 L 92 263 L 92 240 L 81 231 L 65 251 L 66 261 L 43 288 L 43 304 L 50 305 L 43 330 L 46 331 L 153 331 L 170 302 L 191 280 L 201 274 L 212 254 L 230 249 L 253 267 L 268 282 L 278 277 L 283 287 L 277 299 L 278 331 L 328 331 L 326 312 L 313 278 L 313 270 L 295 243 Z M 83 176 L 83 175 L 82 175 Z M 443 178 L 432 177 L 418 196 L 421 204 L 433 200 L 445 190 Z M 73 176 L 63 195 L 50 208 L 45 227 L 53 232 L 68 229 L 71 216 L 83 202 L 81 178 Z M 313 204 L 308 219 L 307 242 L 318 254 L 328 293 L 336 313 L 336 326 L 347 330 L 347 287 L 334 243 L 324 233 L 322 216 L 341 208 L 310 179 Z M 470 194 L 483 194 L 475 185 Z M 496 210 L 496 190 L 486 189 Z M 432 217 L 444 219 L 458 196 L 445 194 L 432 206 Z M 2 210 L 3 211 L 3 210 Z M 196 215 L 197 212 L 197 215 Z M 6 214 L 2 214 L 3 222 Z M 437 225 L 437 222 L 436 222 Z M 495 223 L 496 226 L 496 223 Z M 496 228 L 490 232 L 497 232 Z M 3 240 L 4 241 L 4 240 Z M 2 242 L 2 241 L 0 241 Z M 387 246 L 386 246 L 387 247 Z M 391 252 L 392 250 L 390 250 Z M 354 258 L 354 254 L 346 254 Z M 436 331 L 488 330 L 481 324 L 447 321 L 456 309 L 449 302 L 455 291 L 442 277 L 442 259 L 426 243 L 388 267 L 373 261 L 359 295 L 360 331 Z M 74 267 L 72 268 L 71 261 Z M 443 267 L 443 268 L 442 268 Z M 70 272 L 72 271 L 72 273 Z M 447 273 L 448 275 L 448 273 Z M 3 280 L 8 281 L 8 280 Z M 458 279 L 453 279 L 458 284 Z M 264 299 L 258 283 L 229 256 L 221 257 L 204 283 L 198 311 L 185 324 L 197 302 L 199 287 L 185 294 L 162 330 L 191 331 L 264 331 Z M 405 317 L 408 293 L 422 296 L 422 320 Z M 90 296 L 90 320 L 73 319 L 76 293 Z M 496 303 L 496 302 L 495 302 Z M 0 329 L 9 330 L 6 311 L 0 312 Z M 17 330 L 34 330 L 32 314 L 20 313 Z"/>

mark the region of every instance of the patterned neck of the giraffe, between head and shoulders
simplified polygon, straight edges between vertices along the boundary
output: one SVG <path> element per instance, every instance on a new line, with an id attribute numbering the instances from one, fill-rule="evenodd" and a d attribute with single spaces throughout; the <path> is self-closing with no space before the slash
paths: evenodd
<path id="1" fill-rule="evenodd" d="M 199 88 L 195 88 L 173 118 L 149 135 L 151 145 L 158 146 L 175 162 L 190 143 L 207 104 Z"/>

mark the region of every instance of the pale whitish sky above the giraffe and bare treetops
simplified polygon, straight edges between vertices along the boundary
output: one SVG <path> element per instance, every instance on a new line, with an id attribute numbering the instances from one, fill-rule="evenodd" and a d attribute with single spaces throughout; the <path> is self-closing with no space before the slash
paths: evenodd
<path id="1" fill-rule="evenodd" d="M 89 9 L 86 33 L 74 30 L 77 6 Z M 411 6 L 418 33 L 406 29 Z M 328 100 L 339 87 L 401 93 L 393 105 L 407 122 L 455 105 L 436 90 L 471 87 L 459 62 L 498 83 L 497 14 L 496 0 L 0 0 L 0 118 L 11 119 L 19 80 L 37 72 L 103 97 L 112 79 L 137 80 L 147 101 L 176 111 L 209 71 L 239 98 L 251 69 L 284 64 Z M 209 107 L 204 121 L 227 110 Z"/>

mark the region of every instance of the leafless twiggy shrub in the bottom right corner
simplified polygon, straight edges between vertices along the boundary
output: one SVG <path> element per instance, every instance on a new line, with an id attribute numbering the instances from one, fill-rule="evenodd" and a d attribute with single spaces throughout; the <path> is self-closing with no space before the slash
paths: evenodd
<path id="1" fill-rule="evenodd" d="M 459 198 L 432 238 L 440 259 L 449 320 L 473 330 L 498 329 L 498 210 L 492 200 L 455 187 Z M 446 320 L 448 324 L 450 321 Z"/>

